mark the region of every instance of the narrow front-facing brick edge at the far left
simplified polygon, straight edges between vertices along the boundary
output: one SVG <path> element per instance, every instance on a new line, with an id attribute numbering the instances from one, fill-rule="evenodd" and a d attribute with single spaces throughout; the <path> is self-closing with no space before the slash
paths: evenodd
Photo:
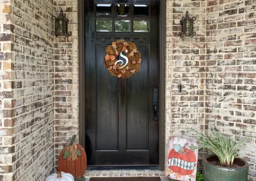
<path id="1" fill-rule="evenodd" d="M 0 1 L 0 180 L 12 180 L 12 32 L 10 1 Z"/>

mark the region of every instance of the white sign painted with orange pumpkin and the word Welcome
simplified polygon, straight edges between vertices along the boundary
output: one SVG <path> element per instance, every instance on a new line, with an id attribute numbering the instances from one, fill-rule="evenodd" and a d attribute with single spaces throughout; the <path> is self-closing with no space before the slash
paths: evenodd
<path id="1" fill-rule="evenodd" d="M 175 180 L 196 180 L 198 143 L 186 138 L 170 138 L 166 177 Z"/>

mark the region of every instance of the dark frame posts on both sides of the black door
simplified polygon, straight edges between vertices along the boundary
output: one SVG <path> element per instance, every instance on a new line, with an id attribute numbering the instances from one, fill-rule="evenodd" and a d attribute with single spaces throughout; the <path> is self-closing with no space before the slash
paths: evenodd
<path id="1" fill-rule="evenodd" d="M 159 87 L 159 170 L 165 168 L 165 83 L 166 83 L 166 0 L 159 0 L 160 16 L 159 16 L 159 59 L 160 59 L 160 87 Z M 85 35 L 84 35 L 84 5 L 86 0 L 78 0 L 78 44 L 79 44 L 79 100 L 85 98 L 85 79 L 86 72 L 84 71 L 85 62 Z M 85 132 L 84 132 L 84 101 L 79 101 L 79 142 L 84 147 Z"/>

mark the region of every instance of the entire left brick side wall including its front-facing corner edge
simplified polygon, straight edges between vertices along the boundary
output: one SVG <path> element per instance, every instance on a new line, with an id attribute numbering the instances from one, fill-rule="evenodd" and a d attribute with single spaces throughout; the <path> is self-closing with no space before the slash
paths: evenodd
<path id="1" fill-rule="evenodd" d="M 0 180 L 44 180 L 54 166 L 53 4 L 0 1 Z"/>

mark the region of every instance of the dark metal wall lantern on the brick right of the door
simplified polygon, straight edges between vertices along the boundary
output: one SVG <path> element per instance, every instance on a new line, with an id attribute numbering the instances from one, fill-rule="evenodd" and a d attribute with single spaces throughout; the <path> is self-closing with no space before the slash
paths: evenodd
<path id="1" fill-rule="evenodd" d="M 196 17 L 189 17 L 188 16 L 188 11 L 186 11 L 186 17 L 182 17 L 182 19 L 180 20 L 180 24 L 181 24 L 181 34 L 180 34 L 180 38 L 183 38 L 184 36 L 191 36 L 191 38 L 193 36 L 196 35 L 194 30 L 194 26 L 193 26 L 193 22 L 196 20 Z"/>

